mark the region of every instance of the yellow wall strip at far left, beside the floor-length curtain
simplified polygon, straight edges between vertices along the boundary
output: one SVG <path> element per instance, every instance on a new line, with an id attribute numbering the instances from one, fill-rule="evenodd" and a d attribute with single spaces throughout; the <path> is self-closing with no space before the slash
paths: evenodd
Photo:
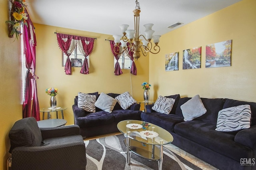
<path id="1" fill-rule="evenodd" d="M 20 43 L 8 38 L 8 14 L 8 1 L 0 0 L 0 170 L 10 156 L 9 130 L 22 119 Z"/>

